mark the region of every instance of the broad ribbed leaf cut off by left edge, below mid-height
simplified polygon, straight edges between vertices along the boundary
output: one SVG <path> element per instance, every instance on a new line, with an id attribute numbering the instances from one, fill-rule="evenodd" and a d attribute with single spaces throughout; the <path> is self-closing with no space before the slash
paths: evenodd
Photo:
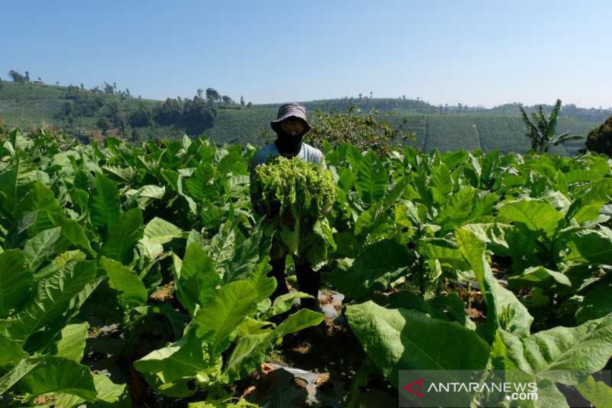
<path id="1" fill-rule="evenodd" d="M 34 280 L 20 250 L 0 253 L 0 319 L 28 300 Z"/>

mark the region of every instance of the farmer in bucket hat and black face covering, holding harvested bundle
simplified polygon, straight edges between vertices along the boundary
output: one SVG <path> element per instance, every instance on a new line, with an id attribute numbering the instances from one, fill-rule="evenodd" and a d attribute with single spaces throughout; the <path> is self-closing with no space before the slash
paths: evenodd
<path id="1" fill-rule="evenodd" d="M 326 168 L 325 161 L 321 150 L 316 149 L 304 142 L 302 138 L 310 130 L 310 125 L 306 120 L 306 108 L 299 103 L 285 103 L 278 108 L 277 119 L 270 122 L 272 130 L 276 132 L 277 138 L 274 143 L 267 144 L 259 149 L 253 156 L 251 161 L 251 180 L 255 175 L 255 168 L 258 165 L 266 163 L 273 157 L 282 155 L 283 157 L 299 157 L 308 163 L 316 163 Z M 257 197 L 251 195 L 251 202 L 259 215 L 264 215 L 265 210 L 256 206 Z M 325 211 L 327 213 L 329 211 Z M 277 287 L 271 295 L 271 300 L 274 301 L 279 295 L 288 293 L 287 283 L 285 281 L 285 259 L 287 253 L 279 245 L 275 239 L 272 241 L 272 249 L 270 251 L 270 265 L 272 270 L 268 276 L 276 278 Z M 318 292 L 321 283 L 321 274 L 315 271 L 312 265 L 297 256 L 293 257 L 296 267 L 297 283 L 300 291 L 312 295 L 314 299 L 300 299 L 303 307 L 315 310 L 319 307 Z"/>

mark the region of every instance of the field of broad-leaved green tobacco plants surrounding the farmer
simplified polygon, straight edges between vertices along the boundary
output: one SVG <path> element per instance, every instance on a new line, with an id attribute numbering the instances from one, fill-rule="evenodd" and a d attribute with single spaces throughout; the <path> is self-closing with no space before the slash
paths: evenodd
<path id="1" fill-rule="evenodd" d="M 325 149 L 325 172 L 261 166 L 269 224 L 250 201 L 252 147 L 1 130 L 2 403 L 231 406 L 285 336 L 324 319 L 291 310 L 299 292 L 267 299 L 274 231 L 325 261 L 348 346 L 395 387 L 400 369 L 520 368 L 548 381 L 543 404 L 567 404 L 553 382 L 605 401 L 592 374 L 612 347 L 606 157 Z M 305 217 L 315 233 L 296 244 Z M 121 373 L 94 373 L 95 350 Z"/>

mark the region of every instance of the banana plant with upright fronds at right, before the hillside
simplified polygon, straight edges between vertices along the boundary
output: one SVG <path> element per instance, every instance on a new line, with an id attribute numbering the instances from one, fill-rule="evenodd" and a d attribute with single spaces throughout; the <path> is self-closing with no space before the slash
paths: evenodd
<path id="1" fill-rule="evenodd" d="M 570 136 L 570 132 L 564 132 L 561 135 L 555 134 L 559 113 L 561 113 L 561 99 L 557 100 L 553 110 L 548 115 L 544 114 L 542 105 L 538 106 L 538 113 L 531 113 L 533 122 L 529 120 L 523 106 L 519 106 L 519 109 L 521 110 L 523 122 L 527 127 L 525 136 L 531 139 L 531 149 L 539 153 L 548 152 L 552 146 L 558 146 L 565 141 L 584 138 L 584 136 Z"/>

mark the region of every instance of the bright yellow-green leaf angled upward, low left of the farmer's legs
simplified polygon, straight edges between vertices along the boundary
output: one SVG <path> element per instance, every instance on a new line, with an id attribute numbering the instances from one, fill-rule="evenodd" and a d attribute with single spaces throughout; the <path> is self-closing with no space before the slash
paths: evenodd
<path id="1" fill-rule="evenodd" d="M 255 310 L 257 292 L 249 281 L 223 285 L 209 304 L 193 318 L 196 334 L 209 343 L 211 356 L 230 346 L 230 335 Z"/>

